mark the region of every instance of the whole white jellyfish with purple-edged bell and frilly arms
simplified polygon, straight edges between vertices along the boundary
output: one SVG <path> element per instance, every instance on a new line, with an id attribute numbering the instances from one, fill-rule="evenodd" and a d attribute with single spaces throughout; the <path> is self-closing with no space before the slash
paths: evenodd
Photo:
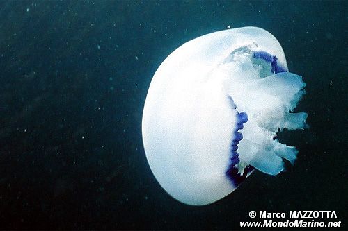
<path id="1" fill-rule="evenodd" d="M 306 126 L 292 113 L 304 94 L 282 47 L 256 27 L 203 35 L 173 51 L 152 78 L 143 110 L 150 168 L 168 194 L 189 205 L 227 196 L 254 169 L 276 175 L 296 148 L 278 128 Z"/>

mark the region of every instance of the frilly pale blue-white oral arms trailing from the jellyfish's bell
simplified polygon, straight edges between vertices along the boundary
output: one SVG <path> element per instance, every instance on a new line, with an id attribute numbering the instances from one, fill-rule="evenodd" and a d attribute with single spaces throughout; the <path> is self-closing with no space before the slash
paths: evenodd
<path id="1" fill-rule="evenodd" d="M 302 96 L 303 87 L 301 76 L 282 72 L 251 80 L 245 85 L 244 92 L 236 94 L 235 89 L 230 89 L 237 109 L 240 105 L 251 117 L 251 123 L 244 128 L 244 142 L 239 146 L 239 158 L 243 162 L 271 175 L 283 171 L 283 158 L 294 163 L 296 148 L 280 144 L 272 137 L 278 128 L 300 129 L 306 126 L 306 113 L 290 112 Z M 248 95 L 248 99 L 244 95 Z"/>

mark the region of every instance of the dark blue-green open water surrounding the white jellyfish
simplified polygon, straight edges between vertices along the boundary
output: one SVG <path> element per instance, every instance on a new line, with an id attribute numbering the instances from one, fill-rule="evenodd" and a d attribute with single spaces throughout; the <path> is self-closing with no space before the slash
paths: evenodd
<path id="1" fill-rule="evenodd" d="M 0 1 L 0 229 L 235 230 L 250 210 L 335 210 L 347 229 L 348 1 Z M 283 46 L 310 128 L 278 176 L 192 207 L 141 137 L 153 74 L 178 46 L 258 26 Z M 314 228 L 307 228 L 311 230 Z M 338 228 L 335 228 L 336 230 Z"/>

